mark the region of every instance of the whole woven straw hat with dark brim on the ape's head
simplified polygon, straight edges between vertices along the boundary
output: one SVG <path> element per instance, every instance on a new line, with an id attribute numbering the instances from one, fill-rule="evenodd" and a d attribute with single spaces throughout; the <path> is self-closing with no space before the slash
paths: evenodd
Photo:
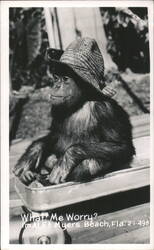
<path id="1" fill-rule="evenodd" d="M 60 57 L 59 60 L 56 58 L 57 55 Z M 73 70 L 84 82 L 90 84 L 102 95 L 112 97 L 115 94 L 112 88 L 105 85 L 104 60 L 95 39 L 88 37 L 77 39 L 63 53 L 48 49 L 47 59 L 51 68 Z"/>

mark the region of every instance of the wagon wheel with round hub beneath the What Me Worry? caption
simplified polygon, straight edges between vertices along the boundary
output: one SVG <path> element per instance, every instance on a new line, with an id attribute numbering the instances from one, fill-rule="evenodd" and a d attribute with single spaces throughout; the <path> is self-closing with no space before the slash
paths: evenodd
<path id="1" fill-rule="evenodd" d="M 57 222 L 49 219 L 28 221 L 19 234 L 20 244 L 65 244 L 66 234 Z"/>

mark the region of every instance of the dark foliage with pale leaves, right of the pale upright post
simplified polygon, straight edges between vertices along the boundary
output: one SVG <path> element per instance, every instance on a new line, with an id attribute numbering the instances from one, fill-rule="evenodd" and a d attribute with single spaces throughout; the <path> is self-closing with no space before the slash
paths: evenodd
<path id="1" fill-rule="evenodd" d="M 144 22 L 136 22 L 123 11 L 101 8 L 107 50 L 120 71 L 149 72 L 149 36 L 147 8 L 130 8 Z"/>

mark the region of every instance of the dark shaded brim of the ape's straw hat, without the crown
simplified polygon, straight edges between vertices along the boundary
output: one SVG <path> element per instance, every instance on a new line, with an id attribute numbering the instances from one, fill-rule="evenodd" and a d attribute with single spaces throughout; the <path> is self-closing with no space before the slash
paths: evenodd
<path id="1" fill-rule="evenodd" d="M 87 86 L 90 86 L 100 97 L 105 97 L 101 91 L 101 89 L 95 87 L 98 86 L 98 82 L 94 79 L 88 71 L 85 71 L 82 68 L 75 67 L 74 65 L 70 65 L 59 60 L 49 60 L 50 71 L 57 74 L 68 74 L 70 76 L 77 76 L 81 79 Z M 105 84 L 104 84 L 105 86 Z"/>

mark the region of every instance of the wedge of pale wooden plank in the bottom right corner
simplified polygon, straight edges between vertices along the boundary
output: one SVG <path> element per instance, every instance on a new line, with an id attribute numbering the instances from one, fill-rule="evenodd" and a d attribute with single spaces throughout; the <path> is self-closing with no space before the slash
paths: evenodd
<path id="1" fill-rule="evenodd" d="M 143 227 L 131 232 L 120 234 L 107 240 L 97 242 L 98 244 L 149 244 L 150 227 Z"/>

